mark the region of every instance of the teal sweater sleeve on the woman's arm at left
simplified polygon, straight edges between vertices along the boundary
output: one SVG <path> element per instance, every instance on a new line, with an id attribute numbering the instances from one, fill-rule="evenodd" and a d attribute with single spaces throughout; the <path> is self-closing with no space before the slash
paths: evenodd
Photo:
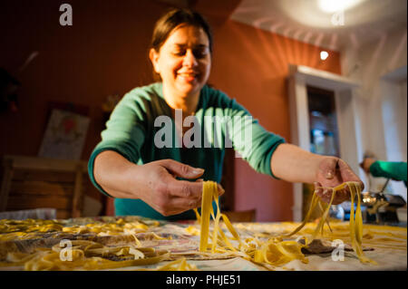
<path id="1" fill-rule="evenodd" d="M 113 150 L 125 159 L 137 163 L 140 159 L 140 149 L 145 139 L 143 126 L 143 111 L 133 92 L 126 94 L 112 111 L 102 131 L 102 141 L 93 149 L 88 161 L 88 174 L 92 184 L 103 194 L 111 197 L 96 182 L 93 169 L 95 158 L 104 150 Z"/>

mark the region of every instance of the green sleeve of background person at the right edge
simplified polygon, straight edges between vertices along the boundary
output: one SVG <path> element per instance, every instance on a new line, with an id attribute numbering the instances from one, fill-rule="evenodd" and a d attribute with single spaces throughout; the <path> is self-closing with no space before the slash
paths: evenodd
<path id="1" fill-rule="evenodd" d="M 404 161 L 376 160 L 370 166 L 370 173 L 374 177 L 393 178 L 407 181 L 407 164 Z"/>

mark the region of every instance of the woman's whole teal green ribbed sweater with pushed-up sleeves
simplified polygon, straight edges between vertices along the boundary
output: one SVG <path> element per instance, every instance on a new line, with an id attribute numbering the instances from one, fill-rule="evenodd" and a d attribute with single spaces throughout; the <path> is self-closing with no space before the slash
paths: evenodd
<path id="1" fill-rule="evenodd" d="M 158 121 L 163 117 L 170 122 Z M 277 146 L 285 140 L 262 128 L 237 101 L 205 85 L 199 94 L 194 121 L 186 132 L 190 131 L 193 145 L 184 143 L 187 148 L 183 148 L 177 140 L 175 120 L 163 98 L 160 82 L 125 94 L 112 111 L 106 130 L 102 131 L 102 141 L 93 149 L 89 159 L 88 171 L 93 185 L 110 196 L 93 175 L 94 159 L 103 150 L 116 151 L 138 165 L 159 159 L 174 159 L 205 169 L 201 178 L 220 182 L 225 148 L 233 147 L 257 172 L 274 177 L 270 159 Z M 170 134 L 166 128 L 170 128 Z M 164 217 L 141 199 L 115 198 L 114 204 L 117 216 L 138 215 L 167 220 L 195 217 L 192 210 Z"/>

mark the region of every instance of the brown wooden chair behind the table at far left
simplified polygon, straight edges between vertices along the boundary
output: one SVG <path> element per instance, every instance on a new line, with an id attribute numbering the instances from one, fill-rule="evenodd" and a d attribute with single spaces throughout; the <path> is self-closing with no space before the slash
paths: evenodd
<path id="1" fill-rule="evenodd" d="M 0 212 L 55 208 L 57 218 L 81 217 L 83 160 L 3 157 Z"/>

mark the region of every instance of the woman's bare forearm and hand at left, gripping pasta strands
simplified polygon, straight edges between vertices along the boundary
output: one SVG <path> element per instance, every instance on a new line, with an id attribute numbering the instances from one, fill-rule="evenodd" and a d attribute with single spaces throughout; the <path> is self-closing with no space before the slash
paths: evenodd
<path id="1" fill-rule="evenodd" d="M 163 216 L 200 207 L 202 183 L 176 177 L 199 178 L 204 169 L 192 168 L 173 159 L 135 165 L 121 154 L 102 151 L 95 159 L 94 177 L 112 197 L 140 198 Z M 219 185 L 219 195 L 224 189 Z"/>

